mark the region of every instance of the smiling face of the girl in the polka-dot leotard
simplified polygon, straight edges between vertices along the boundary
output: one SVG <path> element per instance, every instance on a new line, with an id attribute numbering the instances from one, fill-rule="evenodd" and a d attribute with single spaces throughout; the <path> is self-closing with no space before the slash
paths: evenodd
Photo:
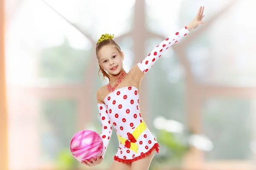
<path id="1" fill-rule="evenodd" d="M 116 49 L 115 45 L 105 45 L 99 50 L 99 65 L 108 74 L 117 75 L 123 68 L 124 54 Z"/>

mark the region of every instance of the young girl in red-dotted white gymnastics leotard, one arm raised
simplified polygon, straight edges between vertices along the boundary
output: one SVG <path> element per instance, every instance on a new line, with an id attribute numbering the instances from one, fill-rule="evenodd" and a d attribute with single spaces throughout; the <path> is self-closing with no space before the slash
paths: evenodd
<path id="1" fill-rule="evenodd" d="M 108 85 L 96 92 L 99 115 L 102 122 L 101 137 L 104 150 L 100 158 L 82 161 L 87 166 L 100 164 L 112 134 L 116 130 L 119 147 L 109 170 L 148 170 L 159 144 L 142 119 L 139 107 L 140 81 L 157 59 L 171 45 L 181 40 L 192 29 L 204 24 L 204 7 L 200 7 L 195 19 L 157 45 L 142 62 L 126 73 L 123 69 L 124 53 L 109 34 L 102 35 L 96 44 L 99 71 L 108 77 Z"/>

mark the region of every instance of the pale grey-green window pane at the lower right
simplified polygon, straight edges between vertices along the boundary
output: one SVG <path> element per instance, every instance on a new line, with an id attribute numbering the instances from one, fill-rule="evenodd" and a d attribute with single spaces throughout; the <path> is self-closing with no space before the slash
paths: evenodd
<path id="1" fill-rule="evenodd" d="M 250 99 L 213 98 L 203 104 L 203 129 L 214 145 L 207 160 L 250 159 Z"/>

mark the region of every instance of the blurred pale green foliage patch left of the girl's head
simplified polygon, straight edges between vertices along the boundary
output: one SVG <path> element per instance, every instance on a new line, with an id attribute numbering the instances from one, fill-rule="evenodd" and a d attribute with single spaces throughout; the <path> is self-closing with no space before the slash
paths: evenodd
<path id="1" fill-rule="evenodd" d="M 84 80 L 91 51 L 78 50 L 67 40 L 60 46 L 43 49 L 39 55 L 39 77 L 51 82 L 77 82 Z"/>

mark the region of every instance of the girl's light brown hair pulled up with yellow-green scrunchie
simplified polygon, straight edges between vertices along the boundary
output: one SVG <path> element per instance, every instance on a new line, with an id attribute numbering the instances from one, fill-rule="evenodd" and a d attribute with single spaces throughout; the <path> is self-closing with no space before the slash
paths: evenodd
<path id="1" fill-rule="evenodd" d="M 114 35 L 110 35 L 110 34 L 102 34 L 102 36 L 99 38 L 97 44 L 96 44 L 96 56 L 98 59 L 98 63 L 99 63 L 99 50 L 104 47 L 105 45 L 115 45 L 117 51 L 119 51 L 119 54 L 122 54 L 121 48 L 119 47 L 119 45 L 113 40 Z M 110 76 L 109 74 L 100 66 L 99 64 L 99 72 L 102 72 L 103 74 L 103 79 L 105 79 L 105 77 L 108 77 L 108 80 L 110 81 Z M 99 75 L 98 72 L 98 75 Z M 99 75 L 100 77 L 100 75 Z"/>

